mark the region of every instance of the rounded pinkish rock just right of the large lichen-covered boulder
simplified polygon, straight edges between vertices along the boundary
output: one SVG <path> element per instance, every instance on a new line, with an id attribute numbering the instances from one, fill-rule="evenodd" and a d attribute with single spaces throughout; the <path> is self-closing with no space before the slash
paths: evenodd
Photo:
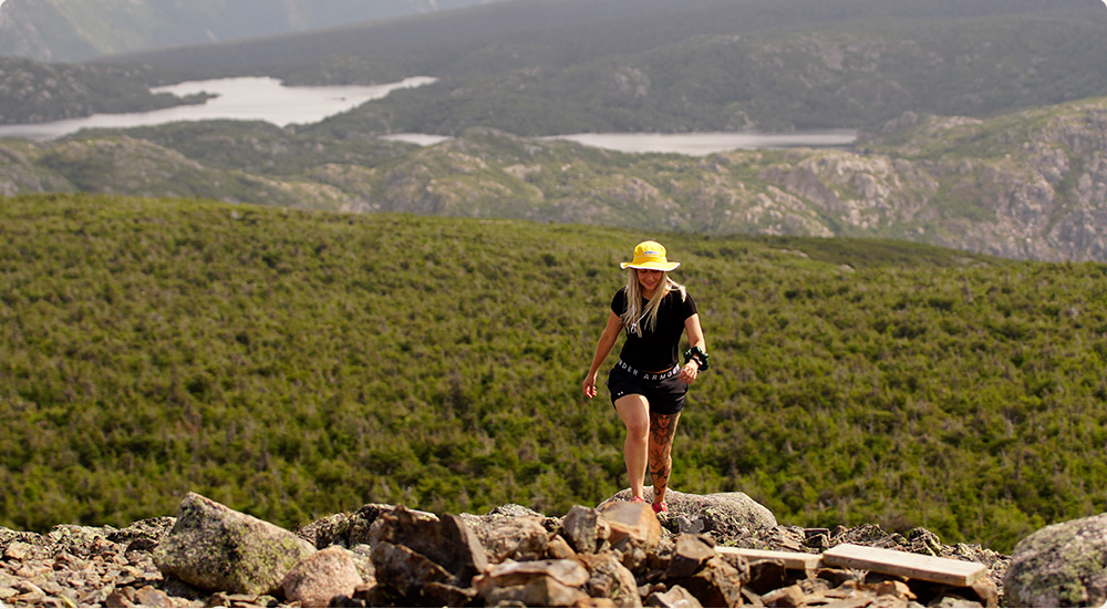
<path id="1" fill-rule="evenodd" d="M 292 568 L 281 587 L 284 598 L 301 607 L 327 607 L 337 596 L 352 597 L 364 584 L 350 550 L 331 546 L 304 558 Z"/>

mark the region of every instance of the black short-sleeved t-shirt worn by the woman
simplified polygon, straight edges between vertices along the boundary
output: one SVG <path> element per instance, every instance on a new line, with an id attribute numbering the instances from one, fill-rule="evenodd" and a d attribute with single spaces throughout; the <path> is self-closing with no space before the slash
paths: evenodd
<path id="1" fill-rule="evenodd" d="M 648 300 L 642 299 L 642 308 L 645 310 Z M 617 316 L 622 317 L 627 311 L 627 288 L 620 288 L 611 299 L 611 310 Z M 649 329 L 643 318 L 639 324 L 642 336 L 627 332 L 627 342 L 623 343 L 619 358 L 632 368 L 643 372 L 662 372 L 672 370 L 677 363 L 676 350 L 681 343 L 681 334 L 684 332 L 684 321 L 696 314 L 695 300 L 685 293 L 681 301 L 680 290 L 671 290 L 661 300 L 661 308 L 658 309 L 658 324 L 653 331 Z"/>

